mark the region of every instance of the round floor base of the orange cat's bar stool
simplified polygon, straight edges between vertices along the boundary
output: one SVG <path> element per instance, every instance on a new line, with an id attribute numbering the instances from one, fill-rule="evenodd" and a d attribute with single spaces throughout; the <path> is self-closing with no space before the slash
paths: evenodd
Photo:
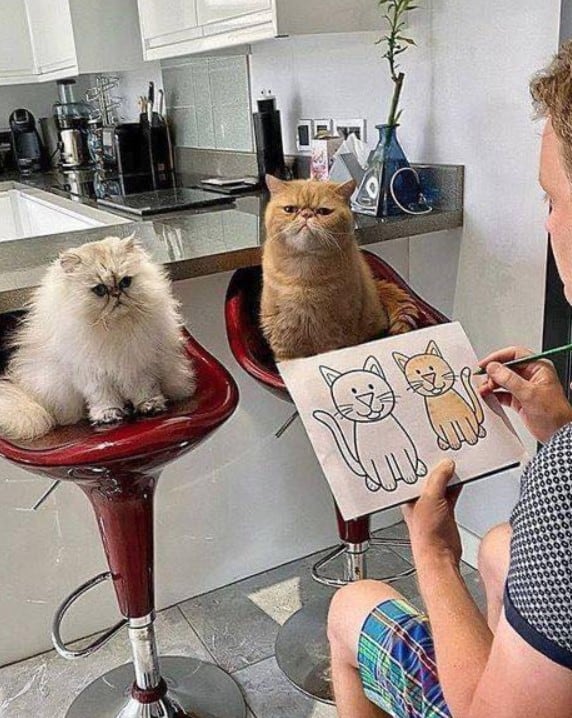
<path id="1" fill-rule="evenodd" d="M 314 700 L 333 704 L 326 628 L 330 600 L 328 596 L 313 601 L 286 621 L 276 639 L 276 661 L 298 690 Z"/>

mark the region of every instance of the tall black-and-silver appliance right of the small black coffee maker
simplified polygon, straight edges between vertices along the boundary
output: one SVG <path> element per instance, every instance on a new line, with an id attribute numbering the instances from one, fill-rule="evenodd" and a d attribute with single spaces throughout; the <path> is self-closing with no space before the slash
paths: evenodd
<path id="1" fill-rule="evenodd" d="M 89 153 L 88 137 L 92 131 L 94 108 L 84 100 L 74 98 L 75 80 L 58 80 L 59 100 L 54 104 L 60 144 L 60 167 L 75 170 L 89 167 L 92 157 Z"/>

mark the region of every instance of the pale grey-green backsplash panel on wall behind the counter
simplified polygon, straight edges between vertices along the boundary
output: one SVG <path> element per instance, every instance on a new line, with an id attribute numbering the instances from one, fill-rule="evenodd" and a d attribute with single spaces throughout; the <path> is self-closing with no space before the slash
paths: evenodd
<path id="1" fill-rule="evenodd" d="M 245 55 L 185 57 L 164 62 L 162 69 L 178 147 L 253 150 Z"/>

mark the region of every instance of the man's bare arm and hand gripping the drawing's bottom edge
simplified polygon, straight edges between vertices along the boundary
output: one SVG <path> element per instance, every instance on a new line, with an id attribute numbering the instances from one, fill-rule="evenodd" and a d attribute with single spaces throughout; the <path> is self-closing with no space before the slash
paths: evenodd
<path id="1" fill-rule="evenodd" d="M 572 718 L 572 671 L 529 646 L 504 616 L 494 639 L 459 572 L 454 464 L 441 462 L 404 507 L 439 681 L 454 718 Z"/>

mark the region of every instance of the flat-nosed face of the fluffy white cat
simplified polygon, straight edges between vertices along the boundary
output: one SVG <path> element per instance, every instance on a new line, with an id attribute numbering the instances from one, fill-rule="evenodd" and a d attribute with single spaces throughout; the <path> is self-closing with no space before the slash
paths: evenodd
<path id="1" fill-rule="evenodd" d="M 106 237 L 63 252 L 59 266 L 74 306 L 87 321 L 106 325 L 144 311 L 149 262 L 133 237 Z"/>

